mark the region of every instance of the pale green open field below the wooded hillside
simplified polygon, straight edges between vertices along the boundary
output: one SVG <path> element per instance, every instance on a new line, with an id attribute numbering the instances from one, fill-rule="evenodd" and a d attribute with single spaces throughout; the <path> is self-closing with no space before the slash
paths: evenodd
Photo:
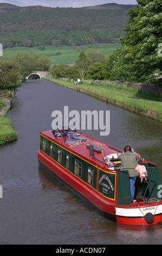
<path id="1" fill-rule="evenodd" d="M 45 50 L 40 51 L 39 46 L 35 46 L 33 48 L 28 47 L 13 47 L 13 48 L 4 48 L 3 49 L 3 56 L 1 59 L 11 59 L 12 56 L 16 52 L 29 52 L 30 54 L 34 55 L 37 54 L 37 56 L 46 55 L 50 57 L 51 61 L 54 61 L 54 64 L 60 64 L 62 62 L 65 63 L 73 63 L 75 60 L 79 57 L 80 51 L 86 51 L 88 48 L 93 48 L 95 50 L 98 50 L 99 52 L 105 53 L 106 55 L 113 52 L 113 50 L 116 48 L 116 46 L 119 46 L 119 44 L 89 44 L 89 45 L 80 45 L 75 46 L 73 49 L 72 46 L 51 46 L 46 45 Z M 56 56 L 56 53 L 60 52 L 61 55 Z"/>

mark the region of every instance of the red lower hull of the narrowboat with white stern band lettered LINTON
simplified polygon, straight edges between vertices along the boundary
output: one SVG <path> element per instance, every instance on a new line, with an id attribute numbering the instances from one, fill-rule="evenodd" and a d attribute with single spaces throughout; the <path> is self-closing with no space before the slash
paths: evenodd
<path id="1" fill-rule="evenodd" d="M 137 203 L 131 205 L 115 205 L 115 201 L 112 202 L 112 200 L 105 199 L 97 190 L 88 186 L 73 173 L 67 172 L 61 164 L 55 162 L 41 150 L 38 151 L 38 161 L 43 167 L 47 167 L 48 172 L 57 175 L 58 178 L 67 182 L 73 191 L 75 190 L 83 197 L 87 198 L 107 218 L 117 223 L 127 225 L 152 225 L 162 223 L 162 200 L 160 200 L 158 204 L 151 203 L 149 205 L 145 202 L 140 202 L 139 205 L 137 205 Z M 147 210 L 149 212 L 151 211 L 150 215 L 153 215 L 153 221 L 152 219 L 146 218 L 144 211 L 146 212 Z"/>

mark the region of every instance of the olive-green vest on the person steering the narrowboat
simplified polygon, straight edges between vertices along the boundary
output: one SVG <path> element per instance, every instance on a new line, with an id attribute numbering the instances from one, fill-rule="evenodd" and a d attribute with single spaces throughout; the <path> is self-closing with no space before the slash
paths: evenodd
<path id="1" fill-rule="evenodd" d="M 126 151 L 125 153 L 120 154 L 121 166 L 128 170 L 129 177 L 137 177 L 139 173 L 135 169 L 129 169 L 128 167 L 135 168 L 137 167 L 136 154 L 131 151 Z"/>

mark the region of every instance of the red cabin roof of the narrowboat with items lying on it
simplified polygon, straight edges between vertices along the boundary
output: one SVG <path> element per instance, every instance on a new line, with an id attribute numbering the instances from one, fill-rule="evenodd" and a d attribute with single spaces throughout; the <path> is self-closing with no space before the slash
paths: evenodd
<path id="1" fill-rule="evenodd" d="M 79 133 L 79 132 L 77 132 Z M 98 166 L 105 166 L 110 168 L 120 162 L 117 157 L 123 151 L 112 147 L 106 143 L 100 142 L 97 139 L 91 138 L 83 133 L 80 134 L 80 138 L 85 139 L 73 139 L 71 137 L 59 137 L 56 138 L 52 131 L 41 132 L 41 135 L 47 137 L 50 141 L 60 145 L 62 148 L 71 151 L 73 154 L 82 157 L 83 159 L 92 162 Z M 90 149 L 93 145 L 93 149 Z M 90 153 L 92 153 L 90 157 Z M 93 155 L 94 153 L 94 155 Z"/>

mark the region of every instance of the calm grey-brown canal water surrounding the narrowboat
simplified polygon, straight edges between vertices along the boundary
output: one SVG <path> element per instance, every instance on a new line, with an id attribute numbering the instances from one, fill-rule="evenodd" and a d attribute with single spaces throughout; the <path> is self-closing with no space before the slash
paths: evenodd
<path id="1" fill-rule="evenodd" d="M 27 81 L 7 114 L 18 139 L 0 148 L 0 244 L 161 244 L 162 225 L 133 227 L 108 221 L 39 168 L 39 133 L 51 130 L 51 113 L 63 112 L 64 106 L 79 113 L 110 111 L 108 136 L 100 136 L 100 130 L 82 132 L 119 149 L 131 145 L 146 160 L 158 164 L 162 180 L 161 123 L 49 81 Z"/>

